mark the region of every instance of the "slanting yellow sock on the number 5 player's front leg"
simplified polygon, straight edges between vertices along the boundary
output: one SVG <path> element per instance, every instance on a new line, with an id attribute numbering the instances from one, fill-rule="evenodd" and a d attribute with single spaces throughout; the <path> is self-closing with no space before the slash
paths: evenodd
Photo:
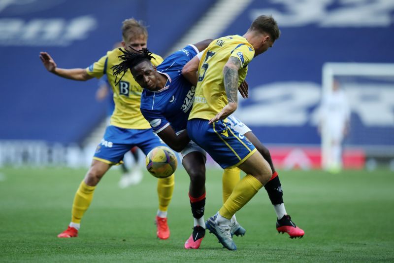
<path id="1" fill-rule="evenodd" d="M 219 210 L 219 214 L 227 219 L 241 209 L 250 199 L 262 188 L 263 185 L 259 180 L 251 175 L 246 175 L 235 186 L 227 201 Z"/>

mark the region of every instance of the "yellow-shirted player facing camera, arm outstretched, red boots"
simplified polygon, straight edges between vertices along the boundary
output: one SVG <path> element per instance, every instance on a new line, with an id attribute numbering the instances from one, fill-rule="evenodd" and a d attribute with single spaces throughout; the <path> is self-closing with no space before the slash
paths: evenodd
<path id="1" fill-rule="evenodd" d="M 122 46 L 141 50 L 147 45 L 148 32 L 145 26 L 135 19 L 123 21 Z M 134 146 L 147 154 L 153 148 L 162 145 L 157 136 L 152 132 L 149 123 L 142 116 L 139 105 L 142 88 L 135 82 L 131 75 L 115 85 L 115 77 L 110 68 L 119 63 L 118 56 L 122 52 L 119 49 L 108 51 L 107 54 L 86 69 L 60 69 L 55 61 L 46 52 L 40 53 L 40 59 L 45 68 L 61 77 L 74 80 L 88 80 L 93 77 L 108 77 L 114 93 L 115 110 L 111 116 L 111 125 L 107 127 L 101 143 L 96 149 L 92 165 L 85 179 L 81 182 L 72 205 L 71 222 L 68 228 L 58 237 L 76 237 L 80 228 L 81 219 L 93 198 L 93 193 L 100 179 L 112 165 L 122 163 L 123 156 Z M 159 65 L 163 59 L 153 54 Z M 174 188 L 174 175 L 168 178 L 158 179 L 157 191 L 159 195 L 159 209 L 157 212 L 157 235 L 161 239 L 167 239 L 170 231 L 167 225 L 167 209 Z"/>

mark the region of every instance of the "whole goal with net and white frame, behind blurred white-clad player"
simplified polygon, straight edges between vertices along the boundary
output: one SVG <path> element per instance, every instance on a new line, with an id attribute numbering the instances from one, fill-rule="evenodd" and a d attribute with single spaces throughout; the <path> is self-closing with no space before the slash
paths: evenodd
<path id="1" fill-rule="evenodd" d="M 322 81 L 322 101 L 330 98 L 337 86 L 343 90 L 350 109 L 342 152 L 360 150 L 367 162 L 393 162 L 394 64 L 326 63 Z M 334 138 L 327 123 L 322 123 L 321 132 L 322 167 L 328 169 Z"/>

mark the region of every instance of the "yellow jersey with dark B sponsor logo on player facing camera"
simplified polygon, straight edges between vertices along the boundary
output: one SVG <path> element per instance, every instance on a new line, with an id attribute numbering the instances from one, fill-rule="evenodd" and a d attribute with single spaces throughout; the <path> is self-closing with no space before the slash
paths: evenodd
<path id="1" fill-rule="evenodd" d="M 123 55 L 123 53 L 118 48 L 108 51 L 105 56 L 92 64 L 86 71 L 89 75 L 97 78 L 104 74 L 108 77 L 115 102 L 115 110 L 111 116 L 111 125 L 125 129 L 149 129 L 151 126 L 142 116 L 139 109 L 142 87 L 134 80 L 130 71 L 115 86 L 115 76 L 112 75 L 111 67 L 121 62 L 118 58 L 120 55 Z M 153 57 L 156 58 L 151 60 L 153 65 L 158 66 L 163 62 L 161 56 L 153 54 Z"/>

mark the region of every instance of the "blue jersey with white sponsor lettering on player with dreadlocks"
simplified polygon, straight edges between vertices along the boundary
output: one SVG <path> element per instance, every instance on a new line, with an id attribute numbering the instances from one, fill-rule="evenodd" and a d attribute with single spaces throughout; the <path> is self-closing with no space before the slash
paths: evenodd
<path id="1" fill-rule="evenodd" d="M 141 113 L 154 133 L 161 132 L 168 125 L 175 132 L 186 129 L 196 87 L 182 76 L 182 68 L 197 54 L 194 45 L 171 54 L 157 67 L 157 71 L 167 77 L 164 88 L 154 92 L 143 90 Z"/>

